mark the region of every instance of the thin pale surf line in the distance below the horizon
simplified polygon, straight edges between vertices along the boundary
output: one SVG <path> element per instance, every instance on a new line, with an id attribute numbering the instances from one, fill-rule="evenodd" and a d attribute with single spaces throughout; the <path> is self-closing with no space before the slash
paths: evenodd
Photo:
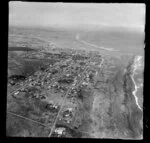
<path id="1" fill-rule="evenodd" d="M 100 49 L 107 50 L 107 51 L 119 51 L 119 50 L 115 50 L 113 48 L 104 48 L 102 46 L 99 47 L 99 46 L 97 46 L 95 44 L 91 44 L 91 43 L 88 43 L 88 42 L 86 42 L 84 40 L 80 40 L 80 35 L 79 34 L 76 35 L 76 40 L 80 41 L 83 44 L 86 44 L 86 45 L 89 45 L 89 46 L 93 46 L 95 48 L 100 48 Z"/>

